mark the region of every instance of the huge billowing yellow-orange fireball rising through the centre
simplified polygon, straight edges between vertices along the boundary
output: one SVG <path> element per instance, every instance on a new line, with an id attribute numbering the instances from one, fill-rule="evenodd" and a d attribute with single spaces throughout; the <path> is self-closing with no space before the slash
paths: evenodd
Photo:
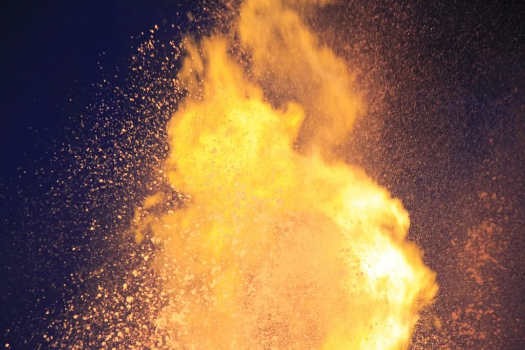
<path id="1" fill-rule="evenodd" d="M 237 39 L 187 44 L 163 169 L 185 205 L 141 219 L 169 300 L 163 348 L 406 348 L 437 291 L 401 202 L 324 156 L 364 109 L 299 3 L 248 0 Z"/>

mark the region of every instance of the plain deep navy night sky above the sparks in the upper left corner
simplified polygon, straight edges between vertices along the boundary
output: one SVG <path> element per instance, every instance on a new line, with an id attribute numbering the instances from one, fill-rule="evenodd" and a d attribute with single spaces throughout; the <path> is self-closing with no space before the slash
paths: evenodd
<path id="1" fill-rule="evenodd" d="M 173 20 L 177 11 L 184 13 L 188 6 L 179 3 L 4 2 L 1 140 L 2 148 L 10 150 L 3 152 L 2 160 L 12 165 L 2 168 L 8 172 L 5 176 L 12 176 L 22 162 L 38 158 L 35 142 L 57 137 L 78 106 L 90 102 L 90 86 L 102 77 L 98 62 L 122 67 L 137 44 L 131 36 L 165 18 Z M 68 107 L 70 97 L 81 100 Z"/>

